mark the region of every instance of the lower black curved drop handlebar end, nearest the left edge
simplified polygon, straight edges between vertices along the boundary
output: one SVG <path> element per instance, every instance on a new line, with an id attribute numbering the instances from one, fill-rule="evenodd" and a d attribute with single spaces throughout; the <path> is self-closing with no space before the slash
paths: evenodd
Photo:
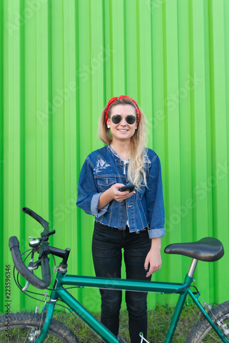
<path id="1" fill-rule="evenodd" d="M 45 289 L 49 287 L 51 282 L 51 276 L 50 276 L 50 267 L 49 267 L 49 258 L 44 257 L 41 261 L 41 271 L 42 271 L 42 277 L 43 280 L 39 279 L 37 276 L 32 274 L 24 265 L 22 259 L 21 259 L 21 252 L 19 248 L 19 240 L 16 238 L 16 236 L 10 237 L 9 240 L 9 246 L 12 253 L 12 258 L 14 261 L 14 265 L 16 267 L 16 270 L 27 280 L 29 283 L 34 285 L 34 287 L 38 289 Z"/>

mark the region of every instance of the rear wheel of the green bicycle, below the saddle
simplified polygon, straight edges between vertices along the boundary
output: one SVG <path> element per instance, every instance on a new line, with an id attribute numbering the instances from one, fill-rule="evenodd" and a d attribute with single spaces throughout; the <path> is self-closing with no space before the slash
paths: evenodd
<path id="1" fill-rule="evenodd" d="M 212 312 L 212 313 L 211 313 Z M 208 316 L 210 316 L 211 320 L 213 320 L 214 324 L 216 320 L 220 320 L 226 323 L 229 329 L 229 301 L 222 303 L 211 311 L 208 311 Z M 220 329 L 220 327 L 219 327 Z M 229 338 L 229 335 L 228 335 Z M 221 342 L 219 336 L 213 328 L 210 326 L 209 322 L 202 316 L 202 318 L 195 324 L 193 329 L 189 332 L 184 343 L 215 343 Z"/>

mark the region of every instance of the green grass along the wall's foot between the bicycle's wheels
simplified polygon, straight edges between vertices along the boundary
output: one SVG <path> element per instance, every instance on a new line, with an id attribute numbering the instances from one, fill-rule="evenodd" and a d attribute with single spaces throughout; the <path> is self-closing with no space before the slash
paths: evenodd
<path id="1" fill-rule="evenodd" d="M 149 342 L 164 342 L 169 322 L 173 315 L 174 307 L 170 305 L 157 305 L 156 309 L 149 309 L 148 311 L 148 336 Z M 99 319 L 99 314 L 94 314 Z M 101 342 L 99 338 L 88 329 L 84 323 L 72 314 L 66 314 L 63 311 L 56 311 L 55 318 L 64 322 L 77 336 L 82 343 Z M 182 343 L 186 339 L 195 322 L 199 320 L 199 312 L 197 307 L 187 303 L 184 305 L 178 327 L 173 336 L 173 343 Z M 127 342 L 130 343 L 130 336 L 128 333 L 128 312 L 123 310 L 120 315 L 119 335 Z"/>

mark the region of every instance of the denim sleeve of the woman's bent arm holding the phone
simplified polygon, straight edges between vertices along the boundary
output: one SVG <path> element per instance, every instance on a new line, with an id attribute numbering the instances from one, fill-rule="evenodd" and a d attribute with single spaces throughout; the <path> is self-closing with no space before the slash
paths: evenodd
<path id="1" fill-rule="evenodd" d="M 87 214 L 94 215 L 97 218 L 101 217 L 101 215 L 108 211 L 109 204 L 104 206 L 103 209 L 98 210 L 97 206 L 100 196 L 101 192 L 97 189 L 93 175 L 93 165 L 87 157 L 80 171 L 76 205 Z"/>

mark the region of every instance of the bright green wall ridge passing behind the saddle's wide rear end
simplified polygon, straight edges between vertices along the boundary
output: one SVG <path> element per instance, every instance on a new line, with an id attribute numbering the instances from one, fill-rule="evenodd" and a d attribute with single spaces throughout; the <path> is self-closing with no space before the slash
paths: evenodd
<path id="1" fill-rule="evenodd" d="M 214 48 L 214 95 L 215 108 L 213 115 L 215 115 L 215 161 L 213 160 L 213 184 L 216 184 L 215 189 L 215 235 L 225 240 L 225 248 L 228 248 L 228 231 L 221 234 L 221 228 L 228 227 L 228 217 L 225 216 L 228 211 L 228 178 L 219 178 L 217 171 L 219 165 L 224 163 L 228 165 L 227 161 L 227 135 L 226 135 L 226 93 L 225 93 L 225 52 L 224 52 L 224 1 L 219 3 L 212 2 L 213 14 L 213 48 Z M 221 54 L 219 54 L 221 51 Z M 219 115 L 220 114 L 220 115 Z M 224 202 L 221 202 L 224 199 Z M 226 243 L 227 242 L 227 243 Z M 224 272 L 223 266 L 219 267 L 217 263 L 217 279 L 219 275 Z M 219 301 L 219 294 L 225 294 L 228 291 L 217 283 L 215 287 L 217 292 L 217 301 Z"/>

